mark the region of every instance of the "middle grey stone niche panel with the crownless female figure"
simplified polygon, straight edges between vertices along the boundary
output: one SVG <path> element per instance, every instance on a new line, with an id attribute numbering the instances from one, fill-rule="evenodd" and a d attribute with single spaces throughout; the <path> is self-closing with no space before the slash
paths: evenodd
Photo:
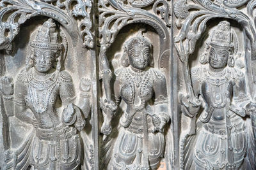
<path id="1" fill-rule="evenodd" d="M 102 169 L 173 166 L 171 22 L 170 1 L 99 1 Z"/>

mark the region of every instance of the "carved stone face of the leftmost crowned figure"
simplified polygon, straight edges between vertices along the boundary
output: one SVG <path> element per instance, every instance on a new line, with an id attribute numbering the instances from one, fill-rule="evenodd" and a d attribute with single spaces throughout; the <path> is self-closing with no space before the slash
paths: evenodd
<path id="1" fill-rule="evenodd" d="M 35 48 L 33 59 L 35 62 L 35 69 L 40 73 L 47 73 L 52 69 L 54 61 L 56 59 L 56 52 L 52 50 L 45 50 Z"/>

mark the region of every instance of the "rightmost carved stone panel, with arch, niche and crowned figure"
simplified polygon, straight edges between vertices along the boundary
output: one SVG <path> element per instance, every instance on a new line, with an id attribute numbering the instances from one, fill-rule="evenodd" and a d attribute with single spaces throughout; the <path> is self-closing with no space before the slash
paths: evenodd
<path id="1" fill-rule="evenodd" d="M 179 168 L 255 169 L 254 3 L 176 1 L 173 7 Z"/>

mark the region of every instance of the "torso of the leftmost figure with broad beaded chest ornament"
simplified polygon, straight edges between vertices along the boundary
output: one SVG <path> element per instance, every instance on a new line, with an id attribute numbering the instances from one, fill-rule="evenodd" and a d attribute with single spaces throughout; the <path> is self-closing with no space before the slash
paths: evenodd
<path id="1" fill-rule="evenodd" d="M 45 80 L 37 80 L 33 69 L 30 69 L 27 73 L 21 71 L 18 80 L 25 87 L 25 91 L 22 93 L 24 94 L 26 106 L 35 115 L 39 127 L 51 129 L 60 124 L 60 115 L 56 112 L 56 101 L 60 96 L 61 85 L 63 83 L 72 83 L 69 74 L 66 72 L 54 72 Z"/>

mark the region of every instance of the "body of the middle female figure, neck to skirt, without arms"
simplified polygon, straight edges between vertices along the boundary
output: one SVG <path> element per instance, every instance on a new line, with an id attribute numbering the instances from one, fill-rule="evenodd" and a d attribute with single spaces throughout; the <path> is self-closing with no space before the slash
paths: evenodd
<path id="1" fill-rule="evenodd" d="M 124 101 L 126 110 L 120 119 L 122 128 L 115 143 L 113 169 L 147 167 L 145 153 L 148 154 L 150 168 L 156 169 L 159 158 L 163 155 L 164 136 L 161 132 L 152 133 L 152 115 L 158 113 L 150 111 L 152 113 L 148 114 L 147 111 L 156 94 L 156 82 L 163 81 L 164 76 L 152 68 L 137 73 L 130 67 L 119 69 L 115 74 L 116 81 L 120 83 L 119 97 Z M 148 136 L 148 141 L 143 139 L 145 135 Z"/>

